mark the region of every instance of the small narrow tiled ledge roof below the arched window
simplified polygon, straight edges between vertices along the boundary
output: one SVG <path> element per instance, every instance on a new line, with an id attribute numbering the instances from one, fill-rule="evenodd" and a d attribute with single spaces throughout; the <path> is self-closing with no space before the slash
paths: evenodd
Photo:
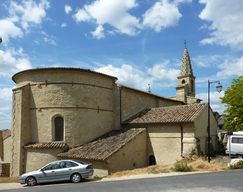
<path id="1" fill-rule="evenodd" d="M 53 149 L 53 148 L 65 148 L 67 144 L 65 142 L 43 142 L 43 143 L 30 143 L 24 146 L 25 149 Z"/>

